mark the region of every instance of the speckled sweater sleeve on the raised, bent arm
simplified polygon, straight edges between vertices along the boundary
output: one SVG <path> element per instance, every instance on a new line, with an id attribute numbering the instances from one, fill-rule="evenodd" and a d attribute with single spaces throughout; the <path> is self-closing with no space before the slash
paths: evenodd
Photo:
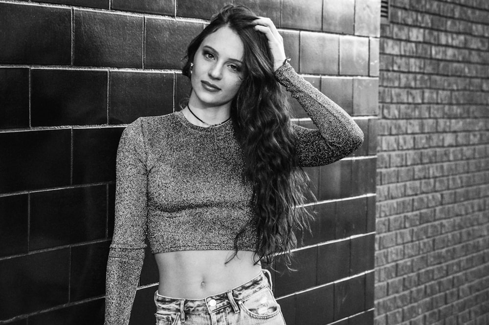
<path id="1" fill-rule="evenodd" d="M 363 132 L 347 112 L 298 75 L 286 63 L 275 71 L 277 80 L 306 110 L 317 130 L 293 125 L 299 166 L 331 164 L 356 151 Z"/>

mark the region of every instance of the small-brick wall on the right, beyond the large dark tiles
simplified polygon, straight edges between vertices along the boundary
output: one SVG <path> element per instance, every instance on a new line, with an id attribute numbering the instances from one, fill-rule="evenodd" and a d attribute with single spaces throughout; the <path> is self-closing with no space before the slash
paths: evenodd
<path id="1" fill-rule="evenodd" d="M 377 325 L 489 324 L 489 2 L 393 0 L 380 38 Z"/>

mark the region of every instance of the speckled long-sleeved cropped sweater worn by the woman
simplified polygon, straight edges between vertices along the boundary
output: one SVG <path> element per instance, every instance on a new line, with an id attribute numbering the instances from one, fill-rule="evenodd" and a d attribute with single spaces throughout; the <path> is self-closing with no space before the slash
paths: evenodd
<path id="1" fill-rule="evenodd" d="M 318 128 L 293 125 L 300 166 L 332 163 L 362 144 L 363 133 L 353 119 L 292 66 L 283 65 L 275 77 Z M 178 111 L 140 117 L 127 126 L 116 159 L 106 325 L 129 323 L 145 238 L 154 254 L 234 249 L 234 238 L 253 217 L 243 166 L 232 121 L 201 128 Z M 248 227 L 238 248 L 255 251 L 256 242 L 256 229 Z"/>

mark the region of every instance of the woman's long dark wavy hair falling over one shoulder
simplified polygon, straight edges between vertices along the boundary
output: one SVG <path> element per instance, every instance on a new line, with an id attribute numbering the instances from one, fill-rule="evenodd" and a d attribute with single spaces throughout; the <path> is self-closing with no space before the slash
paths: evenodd
<path id="1" fill-rule="evenodd" d="M 294 231 L 310 230 L 311 213 L 303 205 L 306 195 L 313 195 L 307 174 L 298 167 L 290 106 L 275 79 L 267 37 L 254 29 L 257 18 L 245 6 L 224 6 L 189 44 L 182 73 L 190 78 L 190 63 L 209 34 L 228 26 L 239 35 L 244 44 L 243 81 L 231 103 L 231 118 L 243 151 L 243 180 L 253 188 L 254 217 L 236 236 L 231 259 L 246 227 L 254 226 L 259 258 L 255 263 L 271 264 L 281 257 L 290 269 L 290 250 L 297 245 Z"/>

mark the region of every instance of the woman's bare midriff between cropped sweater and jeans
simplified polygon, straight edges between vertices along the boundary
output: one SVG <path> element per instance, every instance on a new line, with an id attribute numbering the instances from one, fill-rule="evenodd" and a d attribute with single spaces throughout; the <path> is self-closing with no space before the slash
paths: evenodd
<path id="1" fill-rule="evenodd" d="M 159 271 L 158 293 L 162 296 L 201 299 L 239 286 L 256 277 L 261 265 L 255 253 L 202 250 L 155 254 Z"/>

